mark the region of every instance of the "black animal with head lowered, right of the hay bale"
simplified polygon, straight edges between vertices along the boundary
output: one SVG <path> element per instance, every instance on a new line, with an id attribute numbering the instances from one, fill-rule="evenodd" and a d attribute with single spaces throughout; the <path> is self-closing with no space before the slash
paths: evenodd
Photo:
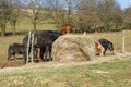
<path id="1" fill-rule="evenodd" d="M 114 44 L 105 38 L 100 38 L 98 42 L 104 47 L 103 54 L 105 55 L 105 52 L 108 50 L 114 51 Z"/>

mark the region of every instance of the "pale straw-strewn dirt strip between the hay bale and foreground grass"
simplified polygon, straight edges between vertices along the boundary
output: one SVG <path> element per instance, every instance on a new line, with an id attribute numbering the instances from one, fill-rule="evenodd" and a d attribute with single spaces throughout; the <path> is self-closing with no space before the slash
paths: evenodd
<path id="1" fill-rule="evenodd" d="M 0 67 L 4 69 L 4 67 L 29 67 L 29 66 L 41 66 L 41 65 L 55 65 L 55 66 L 61 66 L 61 65 L 78 65 L 78 64 L 97 64 L 97 63 L 109 63 L 109 62 L 115 62 L 115 61 L 119 61 L 119 60 L 127 60 L 130 59 L 131 53 L 126 52 L 126 53 L 116 53 L 114 55 L 105 55 L 105 57 L 95 57 L 92 61 L 84 61 L 84 62 L 36 62 L 34 61 L 34 63 L 28 63 L 23 65 L 23 61 L 21 58 L 17 58 L 16 60 L 12 60 L 12 61 L 7 61 L 5 58 L 3 57 L 2 62 L 0 62 Z M 57 65 L 56 65 L 57 63 Z"/>

